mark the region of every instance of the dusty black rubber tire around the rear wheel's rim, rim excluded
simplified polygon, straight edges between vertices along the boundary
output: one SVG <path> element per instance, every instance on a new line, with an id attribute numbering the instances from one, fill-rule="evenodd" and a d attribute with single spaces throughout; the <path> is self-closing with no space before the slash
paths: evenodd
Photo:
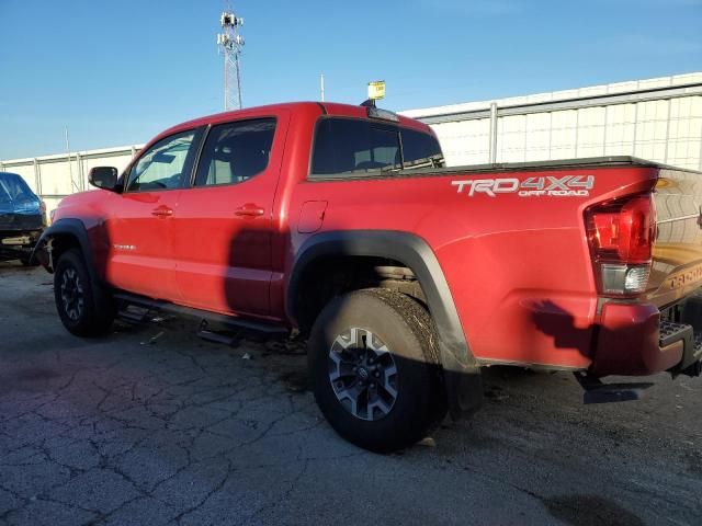
<path id="1" fill-rule="evenodd" d="M 383 338 L 400 373 L 399 395 L 390 413 L 373 422 L 356 419 L 338 402 L 329 386 L 325 365 L 329 352 L 327 343 L 331 338 L 326 333 L 330 330 L 327 325 L 343 325 L 347 323 L 344 319 L 354 319 L 356 316 L 373 320 L 369 327 L 371 330 L 390 325 L 395 333 L 403 331 L 403 335 L 397 338 L 409 345 L 407 348 L 398 348 Z M 359 289 L 331 300 L 313 327 L 308 359 L 319 408 L 331 426 L 358 446 L 376 453 L 403 449 L 428 436 L 446 414 L 446 397 L 433 320 L 419 302 L 396 290 Z M 400 397 L 404 398 L 400 400 Z"/>

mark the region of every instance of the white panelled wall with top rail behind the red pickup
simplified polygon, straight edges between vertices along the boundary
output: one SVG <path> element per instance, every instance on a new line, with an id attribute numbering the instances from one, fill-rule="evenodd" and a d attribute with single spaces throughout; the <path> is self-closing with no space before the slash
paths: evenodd
<path id="1" fill-rule="evenodd" d="M 450 165 L 635 156 L 702 170 L 702 72 L 401 112 L 430 124 Z M 141 145 L 0 160 L 53 209 L 95 165 Z"/>

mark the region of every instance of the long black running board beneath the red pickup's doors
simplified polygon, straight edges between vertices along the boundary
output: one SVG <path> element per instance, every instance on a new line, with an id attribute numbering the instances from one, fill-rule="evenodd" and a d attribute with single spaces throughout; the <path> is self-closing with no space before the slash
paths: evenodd
<path id="1" fill-rule="evenodd" d="M 169 304 L 168 301 L 160 301 L 158 299 L 144 298 L 141 296 L 136 296 L 127 293 L 116 293 L 114 295 L 114 298 L 120 301 L 124 301 L 126 305 L 134 305 L 137 307 L 149 309 L 150 311 L 157 310 L 157 311 L 163 311 L 163 312 L 171 312 L 178 316 L 185 316 L 189 318 L 196 318 L 197 320 L 201 321 L 199 332 L 204 331 L 208 323 L 218 323 L 218 324 L 226 325 L 229 329 L 256 332 L 259 334 L 265 334 L 271 336 L 287 334 L 290 332 L 284 327 L 276 325 L 273 323 L 265 323 L 263 321 L 256 321 L 256 320 L 245 320 L 242 318 L 219 315 L 217 312 L 208 312 L 206 310 L 193 309 L 190 307 Z M 128 315 L 127 315 L 127 318 L 129 318 Z M 205 322 L 204 324 L 203 324 L 203 321 Z M 211 331 L 206 331 L 206 332 L 211 332 Z"/>

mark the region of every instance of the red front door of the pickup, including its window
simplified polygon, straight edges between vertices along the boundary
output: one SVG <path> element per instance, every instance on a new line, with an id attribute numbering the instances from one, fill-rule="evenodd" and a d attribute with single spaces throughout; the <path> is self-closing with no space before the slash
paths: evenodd
<path id="1" fill-rule="evenodd" d="M 112 199 L 106 278 L 115 287 L 177 299 L 173 217 L 190 181 L 199 135 L 188 130 L 156 142 L 133 163 L 124 192 Z"/>

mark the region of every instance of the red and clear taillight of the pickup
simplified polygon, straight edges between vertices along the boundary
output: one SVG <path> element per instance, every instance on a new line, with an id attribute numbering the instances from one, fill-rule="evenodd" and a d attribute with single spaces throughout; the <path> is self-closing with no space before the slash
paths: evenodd
<path id="1" fill-rule="evenodd" d="M 656 238 L 653 196 L 637 195 L 592 206 L 586 210 L 585 220 L 600 293 L 644 291 Z"/>

